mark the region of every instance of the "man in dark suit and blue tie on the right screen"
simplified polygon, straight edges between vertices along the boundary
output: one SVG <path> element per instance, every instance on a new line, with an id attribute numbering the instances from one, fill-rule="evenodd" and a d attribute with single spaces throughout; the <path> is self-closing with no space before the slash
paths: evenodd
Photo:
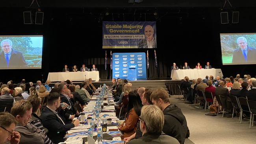
<path id="1" fill-rule="evenodd" d="M 234 50 L 232 63 L 255 63 L 256 49 L 247 45 L 245 37 L 237 38 L 239 48 Z"/>

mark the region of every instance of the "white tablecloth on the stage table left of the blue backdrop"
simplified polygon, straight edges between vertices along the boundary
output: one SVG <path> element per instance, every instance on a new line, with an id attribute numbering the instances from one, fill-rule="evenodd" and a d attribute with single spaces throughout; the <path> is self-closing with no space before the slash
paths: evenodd
<path id="1" fill-rule="evenodd" d="M 49 72 L 48 78 L 50 81 L 84 81 L 85 79 L 92 78 L 93 81 L 99 81 L 99 72 Z"/>

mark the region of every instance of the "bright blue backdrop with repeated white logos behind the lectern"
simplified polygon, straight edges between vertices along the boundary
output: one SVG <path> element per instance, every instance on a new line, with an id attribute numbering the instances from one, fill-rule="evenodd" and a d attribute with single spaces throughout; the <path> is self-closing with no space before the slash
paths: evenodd
<path id="1" fill-rule="evenodd" d="M 145 53 L 113 53 L 113 78 L 127 79 L 131 67 L 136 68 L 137 79 L 147 79 Z"/>

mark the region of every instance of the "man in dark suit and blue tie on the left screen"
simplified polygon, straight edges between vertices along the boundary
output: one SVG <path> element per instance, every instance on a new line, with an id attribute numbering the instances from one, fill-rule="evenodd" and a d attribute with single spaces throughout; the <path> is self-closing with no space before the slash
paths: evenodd
<path id="1" fill-rule="evenodd" d="M 5 39 L 1 42 L 2 52 L 0 53 L 0 68 L 22 68 L 27 63 L 21 52 L 13 50 L 13 42 Z"/>

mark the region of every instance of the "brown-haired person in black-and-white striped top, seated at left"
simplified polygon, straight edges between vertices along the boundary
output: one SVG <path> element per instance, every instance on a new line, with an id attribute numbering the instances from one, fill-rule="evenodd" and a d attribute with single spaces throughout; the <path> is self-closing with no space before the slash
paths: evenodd
<path id="1" fill-rule="evenodd" d="M 29 122 L 44 132 L 45 144 L 54 144 L 50 140 L 50 138 L 48 138 L 48 136 L 46 135 L 46 129 L 42 124 L 41 118 L 39 118 L 39 116 L 41 115 L 40 109 L 41 109 L 42 99 L 40 97 L 38 97 L 37 95 L 33 95 L 33 96 L 28 97 L 27 100 L 28 100 L 28 102 L 30 102 L 32 104 L 32 114 L 31 114 L 31 119 L 29 120 Z"/>

